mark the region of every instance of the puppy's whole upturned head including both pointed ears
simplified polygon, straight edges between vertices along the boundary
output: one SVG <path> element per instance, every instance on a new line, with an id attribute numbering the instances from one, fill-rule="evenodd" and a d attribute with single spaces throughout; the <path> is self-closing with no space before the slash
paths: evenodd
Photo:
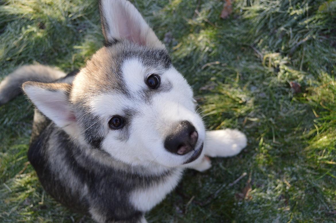
<path id="1" fill-rule="evenodd" d="M 205 129 L 165 46 L 125 0 L 100 1 L 106 46 L 72 84 L 27 82 L 37 108 L 82 145 L 133 165 L 187 165 Z"/>

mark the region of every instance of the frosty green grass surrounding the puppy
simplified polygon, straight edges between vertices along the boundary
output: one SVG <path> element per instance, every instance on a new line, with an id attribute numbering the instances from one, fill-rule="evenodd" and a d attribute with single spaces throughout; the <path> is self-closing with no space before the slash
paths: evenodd
<path id="1" fill-rule="evenodd" d="M 223 1 L 133 3 L 161 40 L 171 34 L 167 48 L 207 127 L 248 137 L 237 157 L 187 171 L 148 221 L 335 222 L 336 2 L 236 0 L 226 20 Z M 79 68 L 102 40 L 97 1 L 3 0 L 0 79 L 22 64 Z M 79 222 L 27 163 L 31 105 L 20 96 L 0 114 L 0 222 Z"/>

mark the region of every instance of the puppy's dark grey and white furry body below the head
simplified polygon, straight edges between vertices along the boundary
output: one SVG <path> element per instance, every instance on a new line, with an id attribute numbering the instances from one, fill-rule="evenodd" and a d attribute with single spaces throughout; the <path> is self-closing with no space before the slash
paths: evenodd
<path id="1" fill-rule="evenodd" d="M 90 153 L 101 151 L 90 149 Z M 162 201 L 181 177 L 180 169 L 139 174 L 118 161 L 107 165 L 71 142 L 37 111 L 28 158 L 52 197 L 75 211 L 90 213 L 98 222 L 137 221 Z"/>

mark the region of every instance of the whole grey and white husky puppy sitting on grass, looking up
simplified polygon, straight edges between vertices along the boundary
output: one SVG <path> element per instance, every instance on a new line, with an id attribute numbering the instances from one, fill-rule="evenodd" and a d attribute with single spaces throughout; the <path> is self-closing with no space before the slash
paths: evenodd
<path id="1" fill-rule="evenodd" d="M 206 156 L 234 156 L 247 140 L 205 130 L 191 87 L 130 2 L 99 6 L 106 45 L 85 67 L 18 68 L 1 82 L 0 104 L 24 82 L 36 106 L 28 159 L 55 200 L 101 223 L 146 222 L 185 168 L 204 171 Z"/>

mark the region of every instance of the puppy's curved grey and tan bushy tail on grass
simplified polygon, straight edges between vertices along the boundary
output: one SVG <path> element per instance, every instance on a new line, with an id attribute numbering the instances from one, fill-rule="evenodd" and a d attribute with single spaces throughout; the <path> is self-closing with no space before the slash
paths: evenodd
<path id="1" fill-rule="evenodd" d="M 28 80 L 51 82 L 66 73 L 44 65 L 25 65 L 8 74 L 0 83 L 0 106 L 22 93 L 22 84 Z"/>

